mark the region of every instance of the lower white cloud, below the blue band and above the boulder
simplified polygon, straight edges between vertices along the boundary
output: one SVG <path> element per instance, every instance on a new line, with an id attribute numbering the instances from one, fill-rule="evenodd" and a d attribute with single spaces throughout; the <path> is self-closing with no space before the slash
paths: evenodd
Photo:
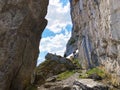
<path id="1" fill-rule="evenodd" d="M 42 38 L 40 44 L 41 52 L 49 52 L 63 56 L 66 49 L 66 43 L 71 36 L 71 32 L 65 30 L 65 34 L 56 34 L 54 37 Z"/>

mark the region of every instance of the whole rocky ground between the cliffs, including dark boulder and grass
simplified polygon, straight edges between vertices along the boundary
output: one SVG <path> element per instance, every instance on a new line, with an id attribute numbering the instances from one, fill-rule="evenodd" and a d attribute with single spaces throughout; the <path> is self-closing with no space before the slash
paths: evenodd
<path id="1" fill-rule="evenodd" d="M 80 67 L 77 59 L 71 61 L 49 53 L 36 68 L 33 84 L 37 89 L 27 90 L 120 90 L 117 79 L 111 78 L 103 67 Z"/>

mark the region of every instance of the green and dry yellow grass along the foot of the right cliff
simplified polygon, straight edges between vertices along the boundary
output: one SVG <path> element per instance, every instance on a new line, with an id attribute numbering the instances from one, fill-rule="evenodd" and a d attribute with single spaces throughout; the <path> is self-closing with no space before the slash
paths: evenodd
<path id="1" fill-rule="evenodd" d="M 103 84 L 105 84 L 105 85 L 108 84 L 108 85 L 113 86 L 113 88 L 110 90 L 116 90 L 116 89 L 114 89 L 114 87 L 120 88 L 120 77 L 114 73 L 109 73 L 108 71 L 105 70 L 104 67 L 101 67 L 101 66 L 90 69 L 84 73 L 81 73 L 79 75 L 79 78 L 85 79 L 85 78 L 88 78 L 88 76 L 91 74 L 97 74 L 97 75 L 101 76 L 102 77 L 101 82 Z"/>

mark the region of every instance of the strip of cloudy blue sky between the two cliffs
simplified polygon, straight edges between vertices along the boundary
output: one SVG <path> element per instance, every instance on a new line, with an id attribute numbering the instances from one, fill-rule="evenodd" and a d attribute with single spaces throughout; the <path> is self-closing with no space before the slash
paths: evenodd
<path id="1" fill-rule="evenodd" d="M 45 60 L 48 52 L 64 55 L 72 28 L 69 0 L 50 0 L 46 19 L 48 25 L 40 41 L 37 65 Z"/>

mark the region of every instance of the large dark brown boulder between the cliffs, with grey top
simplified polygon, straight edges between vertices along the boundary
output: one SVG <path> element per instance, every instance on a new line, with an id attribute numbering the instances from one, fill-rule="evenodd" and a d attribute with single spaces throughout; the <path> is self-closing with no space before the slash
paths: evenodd
<path id="1" fill-rule="evenodd" d="M 48 53 L 45 61 L 36 68 L 34 84 L 41 85 L 46 79 L 66 70 L 74 69 L 74 64 L 61 56 Z"/>

